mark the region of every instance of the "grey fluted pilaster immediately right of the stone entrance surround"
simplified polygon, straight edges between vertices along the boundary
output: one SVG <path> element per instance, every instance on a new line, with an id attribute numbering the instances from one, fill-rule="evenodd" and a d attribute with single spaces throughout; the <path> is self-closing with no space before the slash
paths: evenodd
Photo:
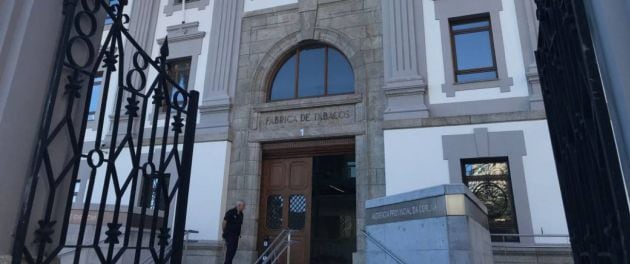
<path id="1" fill-rule="evenodd" d="M 422 118 L 427 66 L 421 1 L 382 1 L 385 120 Z"/>

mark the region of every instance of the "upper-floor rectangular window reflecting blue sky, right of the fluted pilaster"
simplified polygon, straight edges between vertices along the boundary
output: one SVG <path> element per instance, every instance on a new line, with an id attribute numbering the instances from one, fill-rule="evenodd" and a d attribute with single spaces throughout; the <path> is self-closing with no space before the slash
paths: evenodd
<path id="1" fill-rule="evenodd" d="M 488 14 L 450 19 L 456 83 L 496 80 L 497 63 Z"/>

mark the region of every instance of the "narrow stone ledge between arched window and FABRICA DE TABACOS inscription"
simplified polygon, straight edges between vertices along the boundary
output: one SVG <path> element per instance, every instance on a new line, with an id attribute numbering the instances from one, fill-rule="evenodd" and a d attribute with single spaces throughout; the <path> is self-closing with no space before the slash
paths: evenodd
<path id="1" fill-rule="evenodd" d="M 305 98 L 295 100 L 285 100 L 277 102 L 263 103 L 254 106 L 254 111 L 265 113 L 282 110 L 293 110 L 303 108 L 314 108 L 323 106 L 335 106 L 356 104 L 363 100 L 361 94 L 345 94 L 345 95 L 333 95 L 316 98 Z"/>

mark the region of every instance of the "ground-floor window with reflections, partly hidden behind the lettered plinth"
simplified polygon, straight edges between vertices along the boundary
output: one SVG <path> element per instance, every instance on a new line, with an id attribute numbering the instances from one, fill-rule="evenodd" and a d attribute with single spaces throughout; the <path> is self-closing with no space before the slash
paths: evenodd
<path id="1" fill-rule="evenodd" d="M 518 234 L 507 157 L 464 159 L 463 182 L 488 208 L 491 234 Z M 493 236 L 495 242 L 518 242 L 516 236 Z"/>

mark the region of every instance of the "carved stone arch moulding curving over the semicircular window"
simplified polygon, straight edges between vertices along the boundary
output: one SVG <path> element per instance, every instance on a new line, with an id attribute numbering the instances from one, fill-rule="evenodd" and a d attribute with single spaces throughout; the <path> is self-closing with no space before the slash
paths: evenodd
<path id="1" fill-rule="evenodd" d="M 253 85 L 251 85 L 251 94 L 254 95 L 254 103 L 261 104 L 266 102 L 268 87 L 270 79 L 273 78 L 272 74 L 275 73 L 275 69 L 278 64 L 282 63 L 282 59 L 286 54 L 293 50 L 297 45 L 304 41 L 316 41 L 323 44 L 330 45 L 337 48 L 341 53 L 346 56 L 352 71 L 354 74 L 354 91 L 356 94 L 364 94 L 366 91 L 364 80 L 365 62 L 363 56 L 361 56 L 358 43 L 353 42 L 345 34 L 328 28 L 315 28 L 312 39 L 299 39 L 300 30 L 287 34 L 278 42 L 272 45 L 272 48 L 265 53 L 260 60 L 260 63 L 256 66 L 253 77 Z"/>

